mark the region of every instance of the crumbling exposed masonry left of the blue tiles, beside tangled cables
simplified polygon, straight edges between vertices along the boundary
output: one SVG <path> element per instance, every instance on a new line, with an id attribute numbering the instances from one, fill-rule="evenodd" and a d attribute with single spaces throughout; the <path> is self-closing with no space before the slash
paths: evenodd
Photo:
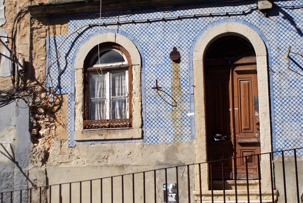
<path id="1" fill-rule="evenodd" d="M 35 81 L 44 81 L 46 77 L 46 36 L 49 34 L 67 33 L 67 22 L 53 23 L 49 29 L 46 19 L 31 19 L 32 39 L 32 69 L 28 78 Z M 67 95 L 54 95 L 52 102 L 46 95 L 44 88 L 39 89 L 38 95 L 42 98 L 41 104 L 31 107 L 31 140 L 35 148 L 45 154 L 43 163 L 48 163 L 49 153 L 52 147 L 67 138 Z M 43 148 L 43 150 L 42 150 Z M 34 157 L 33 157 L 34 158 Z M 40 159 L 40 158 L 39 158 Z M 33 161 L 33 160 L 32 160 Z M 34 162 L 36 160 L 34 159 Z"/>

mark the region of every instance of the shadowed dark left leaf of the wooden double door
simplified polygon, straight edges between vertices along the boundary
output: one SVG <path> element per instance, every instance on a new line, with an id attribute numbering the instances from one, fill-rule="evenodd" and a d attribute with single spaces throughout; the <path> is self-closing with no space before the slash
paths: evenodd
<path id="1" fill-rule="evenodd" d="M 231 158 L 234 153 L 231 137 L 230 78 L 228 66 L 211 66 L 205 69 L 206 123 L 208 160 Z M 225 135 L 225 140 L 215 141 L 215 134 Z M 222 178 L 222 163 L 212 163 L 213 178 Z M 232 161 L 224 161 L 225 178 L 232 178 Z"/>

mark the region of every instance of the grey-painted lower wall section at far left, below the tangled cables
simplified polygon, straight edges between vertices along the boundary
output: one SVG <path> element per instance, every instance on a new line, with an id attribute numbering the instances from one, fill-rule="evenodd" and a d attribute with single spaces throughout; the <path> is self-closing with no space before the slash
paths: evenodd
<path id="1" fill-rule="evenodd" d="M 6 155 L 15 156 L 14 160 L 8 159 L 0 154 L 0 191 L 16 190 L 27 188 L 28 186 L 28 167 L 30 155 L 30 134 L 28 132 L 29 109 L 24 108 L 25 104 L 20 102 L 19 108 L 13 102 L 0 109 L 0 151 Z M 10 147 L 12 146 L 12 148 Z M 8 155 L 9 156 L 9 155 Z M 20 194 L 14 194 L 15 200 L 20 198 Z M 4 201 L 8 201 L 10 194 L 5 195 Z M 27 193 L 24 192 L 23 198 L 26 200 Z"/>

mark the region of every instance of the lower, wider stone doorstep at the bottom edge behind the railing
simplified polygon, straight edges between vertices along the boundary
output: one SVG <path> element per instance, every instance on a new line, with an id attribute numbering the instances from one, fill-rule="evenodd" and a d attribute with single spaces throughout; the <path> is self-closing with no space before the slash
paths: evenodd
<path id="1" fill-rule="evenodd" d="M 203 190 L 201 191 L 202 194 L 202 203 L 204 203 L 205 201 L 211 201 L 211 191 L 210 190 Z M 214 201 L 223 201 L 223 190 L 214 190 L 213 191 L 214 194 Z M 261 190 L 261 194 L 262 194 L 262 202 L 267 202 L 272 200 L 272 196 L 271 196 L 271 190 Z M 274 200 L 277 200 L 277 194 L 278 191 L 274 190 Z M 200 200 L 200 192 L 199 191 L 194 191 L 194 195 L 195 195 L 195 201 L 199 201 Z M 250 201 L 259 201 L 259 190 L 249 190 L 249 200 Z M 247 202 L 247 190 L 242 190 L 242 189 L 237 189 L 237 199 L 238 202 L 239 201 L 246 201 Z M 225 200 L 226 201 L 232 201 L 235 202 L 235 190 L 225 190 Z"/>

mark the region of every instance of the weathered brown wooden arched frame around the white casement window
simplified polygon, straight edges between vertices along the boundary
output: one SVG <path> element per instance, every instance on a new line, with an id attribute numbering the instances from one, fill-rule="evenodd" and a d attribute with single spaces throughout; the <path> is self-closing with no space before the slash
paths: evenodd
<path id="1" fill-rule="evenodd" d="M 106 119 L 106 120 L 89 120 L 88 119 L 88 72 L 96 71 L 100 67 L 89 67 L 89 63 L 92 56 L 99 50 L 106 48 L 116 49 L 121 51 L 126 57 L 127 64 L 113 65 L 113 66 L 102 66 L 101 69 L 104 71 L 116 70 L 116 69 L 127 69 L 128 70 L 128 118 L 127 119 Z M 126 49 L 122 46 L 113 43 L 105 42 L 95 46 L 86 56 L 84 61 L 84 112 L 83 112 L 83 129 L 109 129 L 109 128 L 132 128 L 132 63 L 130 55 Z"/>

